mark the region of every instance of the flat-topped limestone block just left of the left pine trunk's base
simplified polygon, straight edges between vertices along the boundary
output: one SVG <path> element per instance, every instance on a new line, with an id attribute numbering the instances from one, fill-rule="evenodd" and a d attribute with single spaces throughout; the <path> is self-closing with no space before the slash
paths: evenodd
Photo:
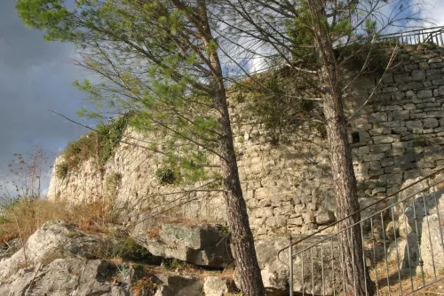
<path id="1" fill-rule="evenodd" d="M 155 256 L 176 258 L 198 266 L 222 267 L 232 261 L 221 225 L 163 223 L 155 235 L 152 224 L 139 223 L 132 236 Z"/>

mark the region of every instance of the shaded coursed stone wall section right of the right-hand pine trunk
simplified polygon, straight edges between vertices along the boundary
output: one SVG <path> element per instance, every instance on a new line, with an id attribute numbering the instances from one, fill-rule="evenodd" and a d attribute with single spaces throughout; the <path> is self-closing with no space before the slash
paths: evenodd
<path id="1" fill-rule="evenodd" d="M 365 196 L 385 196 L 444 164 L 444 49 L 402 48 L 377 95 L 350 122 Z"/>

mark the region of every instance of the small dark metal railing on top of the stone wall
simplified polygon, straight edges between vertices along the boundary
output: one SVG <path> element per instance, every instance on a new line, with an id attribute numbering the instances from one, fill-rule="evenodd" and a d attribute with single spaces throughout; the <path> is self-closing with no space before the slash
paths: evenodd
<path id="1" fill-rule="evenodd" d="M 420 28 L 416 30 L 403 31 L 378 36 L 379 43 L 395 44 L 421 44 L 433 43 L 444 45 L 444 26 L 434 28 Z"/>

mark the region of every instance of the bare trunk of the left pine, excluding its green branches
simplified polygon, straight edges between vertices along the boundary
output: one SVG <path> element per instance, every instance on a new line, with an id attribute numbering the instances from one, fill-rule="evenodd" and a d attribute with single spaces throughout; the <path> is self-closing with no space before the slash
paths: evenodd
<path id="1" fill-rule="evenodd" d="M 211 45 L 216 43 L 212 37 L 207 17 L 205 0 L 198 0 L 198 14 L 202 24 L 202 41 L 209 52 L 212 76 L 210 88 L 213 91 L 213 101 L 218 110 L 218 122 L 221 125 L 219 139 L 219 153 L 222 159 L 222 178 L 226 189 L 226 211 L 231 228 L 234 261 L 241 278 L 242 295 L 264 296 L 265 288 L 258 265 L 258 257 L 254 247 L 254 238 L 250 229 L 247 205 L 242 195 L 241 180 L 234 152 L 233 132 L 231 128 L 228 105 L 226 102 L 226 88 L 222 66 L 218 58 L 218 50 Z M 201 26 L 197 26 L 201 27 Z"/>

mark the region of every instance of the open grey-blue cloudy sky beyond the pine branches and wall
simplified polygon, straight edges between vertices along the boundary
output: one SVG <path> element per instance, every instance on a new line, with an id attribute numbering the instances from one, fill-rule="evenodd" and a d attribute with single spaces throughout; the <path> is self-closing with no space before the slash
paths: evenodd
<path id="1" fill-rule="evenodd" d="M 72 85 L 75 78 L 81 80 L 85 73 L 72 63 L 75 57 L 73 45 L 45 42 L 43 33 L 21 24 L 14 0 L 4 0 L 2 4 L 0 186 L 13 178 L 7 164 L 12 161 L 14 153 L 26 154 L 40 147 L 49 157 L 43 176 L 46 188 L 54 156 L 68 141 L 76 140 L 86 132 L 83 127 L 67 122 L 50 110 L 77 119 L 76 110 L 87 101 L 85 94 Z M 432 0 L 432 6 L 427 6 L 424 16 L 444 25 L 444 0 Z"/>

